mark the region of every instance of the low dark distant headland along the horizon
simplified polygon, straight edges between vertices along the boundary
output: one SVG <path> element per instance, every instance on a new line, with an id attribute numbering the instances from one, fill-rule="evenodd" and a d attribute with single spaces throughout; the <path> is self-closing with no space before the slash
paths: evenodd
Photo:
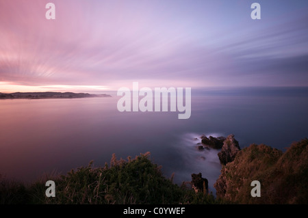
<path id="1" fill-rule="evenodd" d="M 5 94 L 0 92 L 0 99 L 42 99 L 42 98 L 94 98 L 111 97 L 109 94 L 88 94 L 73 92 L 14 92 Z"/>

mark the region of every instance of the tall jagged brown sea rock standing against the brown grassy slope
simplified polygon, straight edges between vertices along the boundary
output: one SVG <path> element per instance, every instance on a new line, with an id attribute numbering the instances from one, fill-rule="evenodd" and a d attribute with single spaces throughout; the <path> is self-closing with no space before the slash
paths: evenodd
<path id="1" fill-rule="evenodd" d="M 238 141 L 234 138 L 234 135 L 229 135 L 224 140 L 221 151 L 218 153 L 220 163 L 226 165 L 235 159 L 235 155 L 241 150 Z"/>

